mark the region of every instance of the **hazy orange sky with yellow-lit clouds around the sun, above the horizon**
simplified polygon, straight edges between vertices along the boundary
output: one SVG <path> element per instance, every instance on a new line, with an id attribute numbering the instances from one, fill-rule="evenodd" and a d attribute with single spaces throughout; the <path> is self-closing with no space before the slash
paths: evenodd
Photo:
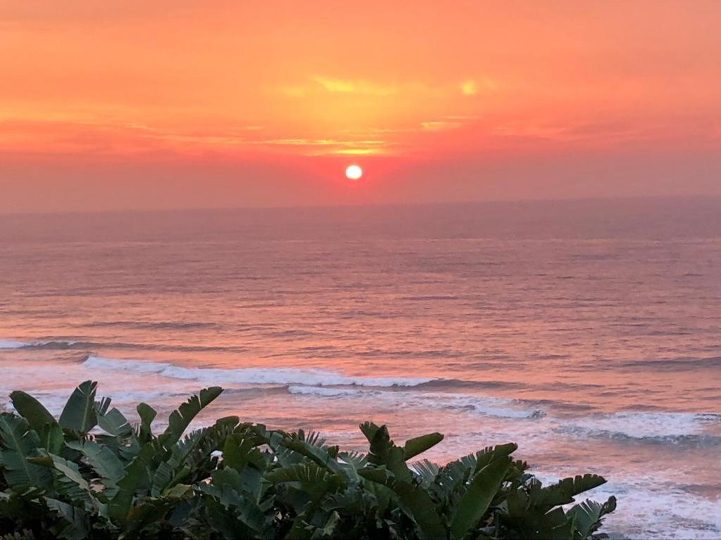
<path id="1" fill-rule="evenodd" d="M 721 194 L 720 21 L 717 0 L 0 0 L 0 212 Z"/>

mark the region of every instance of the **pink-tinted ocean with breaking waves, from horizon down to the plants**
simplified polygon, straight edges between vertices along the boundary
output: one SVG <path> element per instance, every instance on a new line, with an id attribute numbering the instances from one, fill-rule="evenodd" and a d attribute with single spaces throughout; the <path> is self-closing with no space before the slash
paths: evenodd
<path id="1" fill-rule="evenodd" d="M 0 216 L 0 402 L 99 381 L 361 449 L 583 472 L 633 539 L 721 537 L 721 199 Z"/>

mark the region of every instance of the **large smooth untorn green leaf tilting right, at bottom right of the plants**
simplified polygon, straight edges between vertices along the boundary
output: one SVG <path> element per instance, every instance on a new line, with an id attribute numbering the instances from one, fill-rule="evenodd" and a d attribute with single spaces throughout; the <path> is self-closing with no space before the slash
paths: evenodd
<path id="1" fill-rule="evenodd" d="M 510 462 L 509 456 L 499 456 L 471 480 L 451 521 L 451 534 L 454 539 L 464 539 L 478 525 L 497 494 Z"/>

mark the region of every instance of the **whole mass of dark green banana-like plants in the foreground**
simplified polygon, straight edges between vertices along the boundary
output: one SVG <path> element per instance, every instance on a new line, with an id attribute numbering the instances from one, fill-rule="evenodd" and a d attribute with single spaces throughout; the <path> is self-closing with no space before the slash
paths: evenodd
<path id="1" fill-rule="evenodd" d="M 440 433 L 399 446 L 373 423 L 361 425 L 368 454 L 236 417 L 183 436 L 218 387 L 180 405 L 156 435 L 149 405 L 131 426 L 96 387 L 80 384 L 57 420 L 25 392 L 10 396 L 17 414 L 0 415 L 0 538 L 578 540 L 603 538 L 601 518 L 616 506 L 611 497 L 564 510 L 605 480 L 542 487 L 511 457 L 515 444 L 438 467 L 408 461 Z"/>

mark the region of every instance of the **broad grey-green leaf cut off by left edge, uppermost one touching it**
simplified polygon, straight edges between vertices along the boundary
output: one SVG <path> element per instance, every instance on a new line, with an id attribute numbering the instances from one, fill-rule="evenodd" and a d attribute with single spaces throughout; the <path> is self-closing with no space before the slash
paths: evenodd
<path id="1" fill-rule="evenodd" d="M 40 438 L 30 429 L 25 419 L 9 413 L 0 413 L 0 461 L 2 474 L 12 490 L 25 491 L 28 487 L 45 487 L 52 474 L 37 464 L 27 461 L 35 455 Z"/>

